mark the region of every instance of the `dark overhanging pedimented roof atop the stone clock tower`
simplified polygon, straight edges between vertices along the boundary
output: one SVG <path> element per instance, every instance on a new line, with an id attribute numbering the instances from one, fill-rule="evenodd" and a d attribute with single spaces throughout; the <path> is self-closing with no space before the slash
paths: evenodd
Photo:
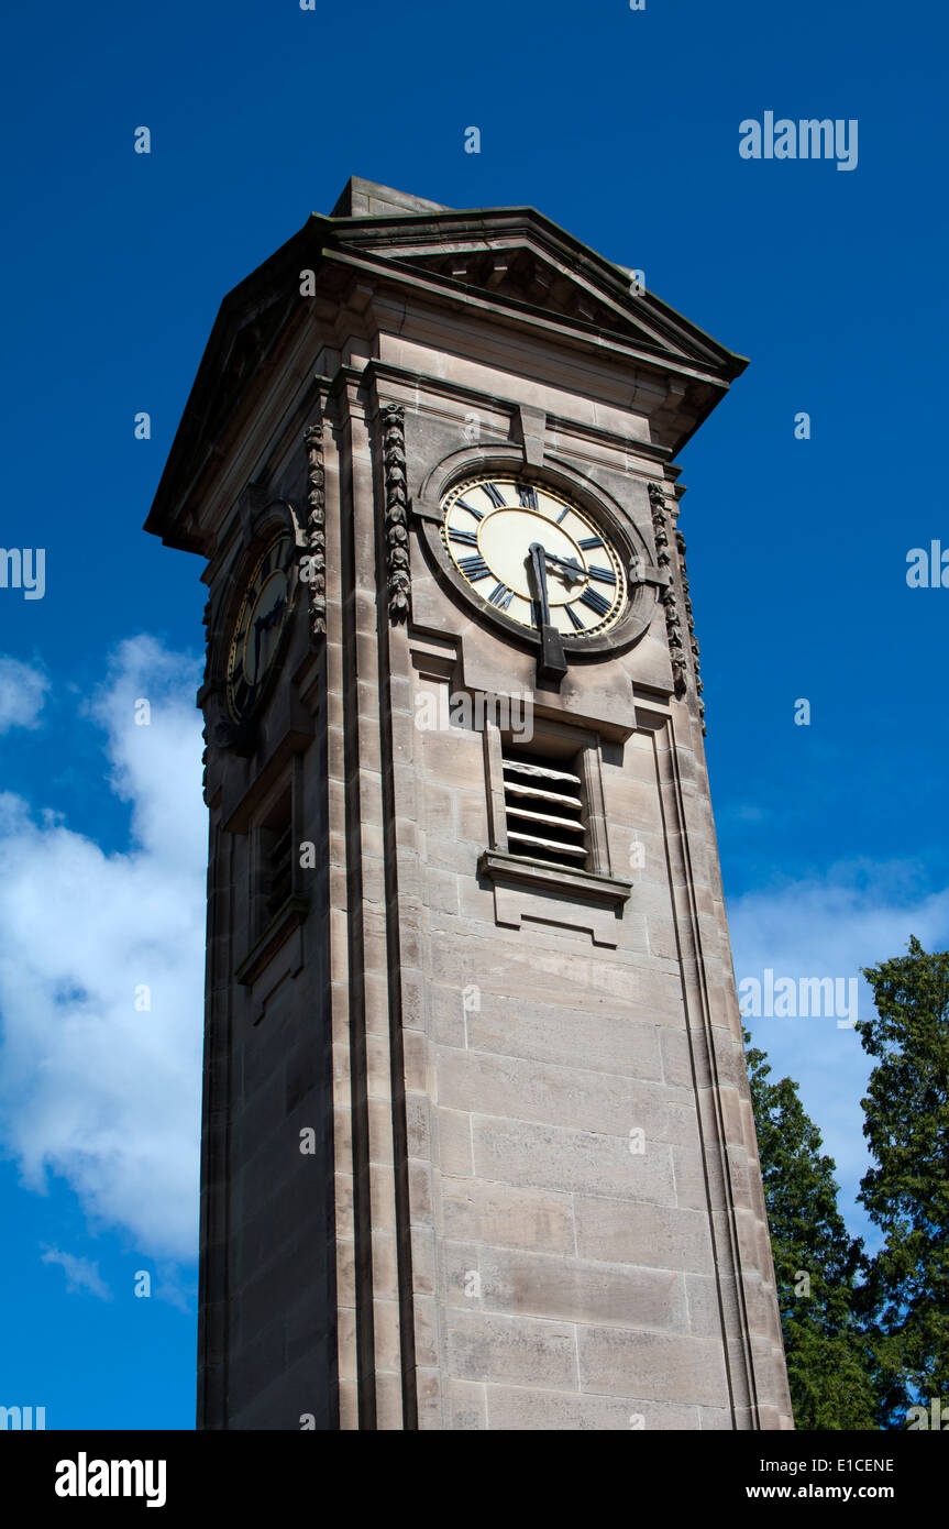
<path id="1" fill-rule="evenodd" d="M 171 546 L 199 550 L 186 523 L 219 442 L 312 315 L 301 271 L 338 309 L 364 309 L 367 294 L 394 284 L 455 323 L 462 312 L 585 352 L 628 372 L 630 399 L 653 378 L 666 399 L 654 431 L 671 456 L 747 365 L 532 206 L 446 208 L 353 176 L 329 217 L 312 214 L 220 306 L 145 521 Z"/>

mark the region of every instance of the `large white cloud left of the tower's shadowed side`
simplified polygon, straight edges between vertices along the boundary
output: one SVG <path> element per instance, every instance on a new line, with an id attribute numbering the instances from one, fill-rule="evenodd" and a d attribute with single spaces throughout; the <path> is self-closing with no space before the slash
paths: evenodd
<path id="1" fill-rule="evenodd" d="M 107 855 L 0 794 L 0 1136 L 156 1258 L 197 1238 L 206 812 L 196 662 L 121 645 L 87 711 L 131 846 Z M 151 705 L 136 726 L 134 703 Z M 139 1012 L 136 989 L 150 989 Z"/>

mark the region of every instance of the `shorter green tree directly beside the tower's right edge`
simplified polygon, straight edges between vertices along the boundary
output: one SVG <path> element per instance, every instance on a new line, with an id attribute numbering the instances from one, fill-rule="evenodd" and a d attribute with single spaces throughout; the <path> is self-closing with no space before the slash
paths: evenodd
<path id="1" fill-rule="evenodd" d="M 863 1245 L 844 1225 L 834 1162 L 798 1084 L 770 1083 L 756 1047 L 747 1061 L 795 1423 L 874 1428 L 871 1349 L 856 1315 Z"/>

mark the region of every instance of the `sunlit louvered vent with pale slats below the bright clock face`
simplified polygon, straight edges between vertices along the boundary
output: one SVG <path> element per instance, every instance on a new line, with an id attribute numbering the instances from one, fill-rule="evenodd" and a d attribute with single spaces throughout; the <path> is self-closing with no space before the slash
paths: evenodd
<path id="1" fill-rule="evenodd" d="M 527 755 L 507 746 L 503 758 L 509 852 L 582 870 L 587 832 L 579 775 L 564 768 L 565 760 Z"/>

